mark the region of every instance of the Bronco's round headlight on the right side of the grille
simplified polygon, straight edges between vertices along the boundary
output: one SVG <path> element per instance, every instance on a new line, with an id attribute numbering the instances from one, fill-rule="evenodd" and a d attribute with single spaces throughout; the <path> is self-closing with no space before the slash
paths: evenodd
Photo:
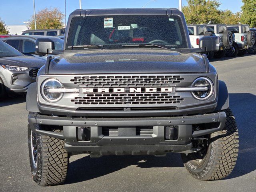
<path id="1" fill-rule="evenodd" d="M 200 77 L 194 80 L 192 87 L 207 87 L 207 90 L 204 90 L 204 91 L 191 92 L 194 98 L 199 100 L 206 100 L 210 98 L 210 96 L 212 96 L 214 91 L 214 86 L 212 81 L 206 77 Z"/>

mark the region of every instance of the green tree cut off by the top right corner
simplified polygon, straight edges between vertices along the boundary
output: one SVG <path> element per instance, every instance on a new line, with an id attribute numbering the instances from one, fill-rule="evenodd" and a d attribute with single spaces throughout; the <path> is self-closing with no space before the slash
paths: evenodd
<path id="1" fill-rule="evenodd" d="M 256 27 L 256 0 L 242 0 L 241 23 Z"/>

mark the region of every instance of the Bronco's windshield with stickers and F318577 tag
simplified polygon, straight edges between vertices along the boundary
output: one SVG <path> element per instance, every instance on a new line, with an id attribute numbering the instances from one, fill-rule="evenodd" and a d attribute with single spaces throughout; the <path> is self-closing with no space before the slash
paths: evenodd
<path id="1" fill-rule="evenodd" d="M 74 17 L 66 47 L 92 44 L 103 45 L 109 49 L 123 48 L 122 45 L 126 44 L 157 44 L 166 48 L 188 48 L 179 16 Z M 80 49 L 84 48 L 80 47 Z"/>

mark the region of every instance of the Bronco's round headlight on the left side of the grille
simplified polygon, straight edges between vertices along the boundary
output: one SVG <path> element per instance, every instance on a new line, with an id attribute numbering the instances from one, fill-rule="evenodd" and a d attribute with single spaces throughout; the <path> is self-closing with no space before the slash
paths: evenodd
<path id="1" fill-rule="evenodd" d="M 53 78 L 45 80 L 41 86 L 41 94 L 46 101 L 55 102 L 62 97 L 63 93 L 50 92 L 49 90 L 58 88 L 63 88 L 60 81 Z"/>

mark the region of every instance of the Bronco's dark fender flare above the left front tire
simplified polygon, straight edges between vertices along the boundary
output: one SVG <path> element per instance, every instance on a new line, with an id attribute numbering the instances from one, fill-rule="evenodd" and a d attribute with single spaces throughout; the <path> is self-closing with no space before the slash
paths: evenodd
<path id="1" fill-rule="evenodd" d="M 36 113 L 40 112 L 37 104 L 36 82 L 28 86 L 27 97 L 26 97 L 26 109 L 29 112 L 36 112 Z"/>

